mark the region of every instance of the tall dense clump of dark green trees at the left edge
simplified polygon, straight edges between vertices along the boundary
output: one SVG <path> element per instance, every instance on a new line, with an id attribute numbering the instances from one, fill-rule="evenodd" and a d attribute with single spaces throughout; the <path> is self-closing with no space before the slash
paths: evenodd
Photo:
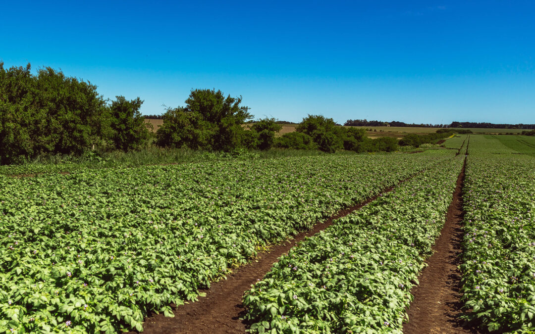
<path id="1" fill-rule="evenodd" d="M 134 150 L 150 136 L 139 112 L 143 101 L 106 100 L 96 86 L 50 67 L 36 75 L 0 62 L 0 163 L 40 154 L 82 154 L 88 149 Z"/>

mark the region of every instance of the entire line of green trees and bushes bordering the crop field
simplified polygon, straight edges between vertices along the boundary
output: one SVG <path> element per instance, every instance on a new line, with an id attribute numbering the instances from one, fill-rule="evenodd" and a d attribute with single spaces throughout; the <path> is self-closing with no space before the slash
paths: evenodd
<path id="1" fill-rule="evenodd" d="M 184 106 L 169 107 L 155 134 L 141 115 L 143 100 L 104 99 L 89 81 L 67 77 L 50 67 L 35 75 L 30 65 L 5 69 L 0 62 L 0 163 L 18 164 L 37 156 L 159 147 L 232 152 L 272 147 L 335 152 L 392 152 L 449 136 L 409 135 L 371 139 L 365 129 L 341 127 L 332 118 L 308 115 L 295 131 L 276 136 L 283 121 L 253 120 L 242 98 L 220 90 L 192 90 Z M 152 115 L 156 117 L 156 115 Z"/>

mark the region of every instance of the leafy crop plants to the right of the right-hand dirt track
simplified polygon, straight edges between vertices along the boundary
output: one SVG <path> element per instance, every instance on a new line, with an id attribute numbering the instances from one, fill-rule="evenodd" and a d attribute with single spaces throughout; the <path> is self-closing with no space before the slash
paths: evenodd
<path id="1" fill-rule="evenodd" d="M 489 142 L 470 139 L 463 195 L 464 318 L 490 331 L 533 333 L 535 160 Z"/>

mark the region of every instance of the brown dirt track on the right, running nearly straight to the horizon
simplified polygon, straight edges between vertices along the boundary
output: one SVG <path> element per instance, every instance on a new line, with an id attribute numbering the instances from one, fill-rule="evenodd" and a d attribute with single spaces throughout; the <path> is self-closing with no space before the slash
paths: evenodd
<path id="1" fill-rule="evenodd" d="M 468 152 L 468 144 L 467 144 Z M 411 290 L 415 297 L 408 310 L 409 322 L 403 325 L 403 333 L 480 333 L 475 328 L 463 327 L 461 314 L 461 264 L 463 220 L 462 187 L 464 166 L 457 178 L 457 187 L 449 205 L 446 223 L 433 246 L 433 255 L 418 277 L 419 285 Z"/>

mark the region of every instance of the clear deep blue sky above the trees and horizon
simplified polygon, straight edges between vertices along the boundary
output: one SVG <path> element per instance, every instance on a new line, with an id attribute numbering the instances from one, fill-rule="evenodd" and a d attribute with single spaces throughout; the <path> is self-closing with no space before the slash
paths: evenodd
<path id="1" fill-rule="evenodd" d="M 535 123 L 535 1 L 2 1 L 0 59 L 143 114 L 190 90 L 256 118 Z"/>

